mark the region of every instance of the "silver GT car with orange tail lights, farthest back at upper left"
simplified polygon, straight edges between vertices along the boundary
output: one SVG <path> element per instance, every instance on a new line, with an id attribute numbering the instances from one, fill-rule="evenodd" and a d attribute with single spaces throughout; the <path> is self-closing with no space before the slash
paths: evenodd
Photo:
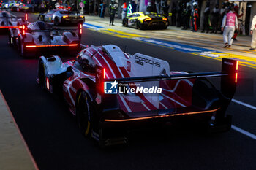
<path id="1" fill-rule="evenodd" d="M 68 23 L 84 23 L 85 21 L 84 16 L 80 15 L 78 12 L 57 9 L 51 10 L 45 14 L 39 14 L 38 20 L 54 23 L 55 26 Z"/>

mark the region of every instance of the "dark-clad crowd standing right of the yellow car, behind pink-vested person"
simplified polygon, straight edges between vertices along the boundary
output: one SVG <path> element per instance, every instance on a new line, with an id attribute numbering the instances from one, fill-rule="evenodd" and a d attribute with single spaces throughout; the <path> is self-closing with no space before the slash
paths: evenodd
<path id="1" fill-rule="evenodd" d="M 219 8 L 219 4 L 215 4 L 214 8 L 210 8 L 210 3 L 206 2 L 206 7 L 203 10 L 203 30 L 202 33 L 215 33 L 222 34 L 221 24 L 224 16 L 229 12 L 230 7 L 233 7 L 234 13 L 237 18 L 241 18 L 241 15 L 238 15 L 239 7 L 237 4 L 230 3 L 228 1 L 222 3 L 222 7 Z M 198 30 L 198 23 L 200 20 L 199 7 L 196 1 L 193 3 L 187 2 L 183 4 L 173 3 L 171 12 L 173 14 L 171 19 L 171 24 L 173 26 L 181 27 L 186 30 L 191 28 L 192 31 Z M 210 32 L 211 31 L 211 32 Z M 235 34 L 234 39 L 236 40 L 237 33 Z"/>

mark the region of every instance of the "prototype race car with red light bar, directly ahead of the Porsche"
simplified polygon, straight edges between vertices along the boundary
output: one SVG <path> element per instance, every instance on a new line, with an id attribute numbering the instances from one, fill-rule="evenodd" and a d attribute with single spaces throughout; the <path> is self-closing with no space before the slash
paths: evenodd
<path id="1" fill-rule="evenodd" d="M 82 24 L 78 29 L 54 28 L 48 23 L 36 21 L 22 28 L 10 29 L 9 44 L 18 48 L 21 56 L 35 56 L 49 50 L 78 53 L 82 35 Z"/>

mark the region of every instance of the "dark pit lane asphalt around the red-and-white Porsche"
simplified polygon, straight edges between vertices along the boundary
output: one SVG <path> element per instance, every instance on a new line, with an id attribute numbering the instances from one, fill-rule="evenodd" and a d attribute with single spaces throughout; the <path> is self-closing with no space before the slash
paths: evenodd
<path id="1" fill-rule="evenodd" d="M 30 15 L 29 15 L 30 16 Z M 220 62 L 165 47 L 83 30 L 84 45 L 115 44 L 127 52 L 162 58 L 171 70 L 219 71 Z M 62 101 L 38 87 L 37 58 L 24 59 L 0 36 L 0 88 L 39 169 L 255 169 L 256 142 L 237 131 L 143 131 L 127 147 L 101 150 L 78 130 Z M 69 57 L 64 57 L 67 61 Z M 255 69 L 240 66 L 240 77 L 255 78 Z M 255 81 L 255 80 L 253 80 Z M 244 84 L 244 86 L 243 86 Z M 247 83 L 238 91 L 251 93 Z M 255 87 L 253 87 L 255 89 Z M 255 106 L 255 94 L 236 99 Z M 233 125 L 255 134 L 255 110 L 230 104 Z M 189 127 L 188 127 L 189 128 Z"/>

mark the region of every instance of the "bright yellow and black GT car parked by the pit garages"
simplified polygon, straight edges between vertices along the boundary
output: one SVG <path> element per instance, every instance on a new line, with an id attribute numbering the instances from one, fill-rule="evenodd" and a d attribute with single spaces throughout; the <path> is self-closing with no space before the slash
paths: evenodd
<path id="1" fill-rule="evenodd" d="M 171 14 L 170 14 L 171 15 Z M 134 12 L 123 19 L 123 26 L 137 29 L 164 28 L 169 25 L 167 17 L 154 12 Z"/>

